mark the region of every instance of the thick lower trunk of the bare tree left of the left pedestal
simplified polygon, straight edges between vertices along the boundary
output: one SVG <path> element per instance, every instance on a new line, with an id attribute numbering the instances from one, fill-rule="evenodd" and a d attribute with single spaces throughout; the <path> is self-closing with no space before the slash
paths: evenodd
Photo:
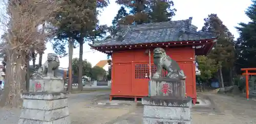
<path id="1" fill-rule="evenodd" d="M 22 105 L 20 94 L 25 88 L 26 68 L 23 68 L 25 61 L 23 57 L 18 57 L 15 50 L 9 50 L 6 64 L 6 80 L 0 105 L 18 108 Z"/>

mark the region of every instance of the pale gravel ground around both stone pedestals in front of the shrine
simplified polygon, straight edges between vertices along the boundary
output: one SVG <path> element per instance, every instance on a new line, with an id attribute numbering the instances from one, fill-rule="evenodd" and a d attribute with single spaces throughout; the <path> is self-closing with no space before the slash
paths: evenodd
<path id="1" fill-rule="evenodd" d="M 95 97 L 109 92 L 70 94 L 69 107 L 72 124 L 141 124 L 142 107 L 111 107 L 92 104 Z M 105 96 L 104 95 L 104 96 Z M 192 109 L 193 124 L 256 124 L 256 102 L 219 94 L 205 94 L 214 101 L 216 109 L 200 112 Z M 16 124 L 19 109 L 1 109 L 0 124 Z"/>

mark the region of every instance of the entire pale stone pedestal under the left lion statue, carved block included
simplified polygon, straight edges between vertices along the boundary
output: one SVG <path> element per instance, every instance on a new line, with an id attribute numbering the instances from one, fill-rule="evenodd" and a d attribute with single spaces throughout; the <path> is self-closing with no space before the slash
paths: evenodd
<path id="1" fill-rule="evenodd" d="M 30 80 L 29 92 L 22 94 L 23 108 L 18 124 L 70 124 L 68 98 L 62 78 Z"/>

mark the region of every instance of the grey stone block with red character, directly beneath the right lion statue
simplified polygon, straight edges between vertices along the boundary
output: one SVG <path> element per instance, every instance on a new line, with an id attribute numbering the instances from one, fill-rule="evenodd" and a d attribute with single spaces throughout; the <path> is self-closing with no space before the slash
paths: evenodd
<path id="1" fill-rule="evenodd" d="M 185 80 L 157 78 L 150 81 L 149 96 L 166 96 L 172 98 L 185 98 Z"/>

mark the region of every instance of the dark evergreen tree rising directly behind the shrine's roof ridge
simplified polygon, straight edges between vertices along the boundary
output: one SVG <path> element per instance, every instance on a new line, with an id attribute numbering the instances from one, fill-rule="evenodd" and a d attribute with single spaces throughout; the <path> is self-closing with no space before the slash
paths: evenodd
<path id="1" fill-rule="evenodd" d="M 130 23 L 135 21 L 136 24 L 168 21 L 176 12 L 170 0 L 117 0 L 116 3 L 130 9 L 130 15 L 125 20 Z"/>

